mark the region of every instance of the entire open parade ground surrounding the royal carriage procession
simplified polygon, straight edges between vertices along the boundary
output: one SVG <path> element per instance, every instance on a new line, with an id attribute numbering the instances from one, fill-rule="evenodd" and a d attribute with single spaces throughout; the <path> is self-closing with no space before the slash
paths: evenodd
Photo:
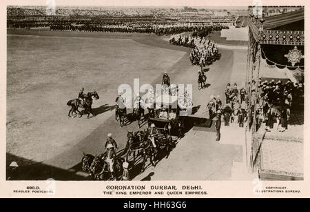
<path id="1" fill-rule="evenodd" d="M 125 148 L 127 131 L 138 131 L 138 125 L 120 128 L 114 101 L 118 86 L 133 87 L 134 78 L 140 85 L 161 84 L 167 71 L 173 84 L 193 84 L 193 116 L 203 118 L 209 118 L 210 95 L 225 102 L 226 84 L 245 81 L 247 50 L 234 48 L 244 44 L 236 41 L 220 48 L 220 60 L 207 67 L 206 88 L 198 90 L 199 67 L 189 62 L 191 48 L 170 45 L 167 37 L 8 30 L 7 39 L 7 164 L 14 160 L 25 167 L 20 180 L 83 180 L 83 153 L 103 153 L 107 133 L 118 150 Z M 99 93 L 92 106 L 96 117 L 68 117 L 66 103 L 81 87 Z M 231 144 L 229 138 L 238 133 L 242 140 L 241 129 L 223 129 L 223 140 L 216 142 L 214 127 L 192 128 L 156 167 L 136 171 L 133 180 L 238 180 L 232 170 L 245 162 L 244 152 L 242 143 Z"/>

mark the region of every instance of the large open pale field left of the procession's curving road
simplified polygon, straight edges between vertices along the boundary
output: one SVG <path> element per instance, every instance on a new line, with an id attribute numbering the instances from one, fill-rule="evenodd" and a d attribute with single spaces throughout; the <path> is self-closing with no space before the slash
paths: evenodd
<path id="1" fill-rule="evenodd" d="M 120 84 L 132 85 L 134 78 L 151 83 L 185 55 L 125 37 L 44 33 L 7 37 L 7 152 L 37 162 L 74 146 L 102 124 Z M 91 121 L 67 117 L 66 103 L 81 87 L 100 95 L 93 107 L 101 115 Z"/>

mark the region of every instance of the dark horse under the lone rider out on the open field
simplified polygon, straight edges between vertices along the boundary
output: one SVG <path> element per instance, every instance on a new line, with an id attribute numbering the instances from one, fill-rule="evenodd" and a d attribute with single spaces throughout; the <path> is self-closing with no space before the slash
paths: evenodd
<path id="1" fill-rule="evenodd" d="M 83 115 L 83 113 L 81 113 L 81 111 L 79 111 L 79 107 L 84 109 L 84 113 L 88 113 L 87 118 L 90 118 L 90 113 L 92 113 L 92 115 L 94 115 L 94 113 L 92 112 L 92 98 L 94 97 L 94 99 L 99 99 L 99 95 L 96 91 L 94 92 L 89 92 L 87 93 L 87 95 L 85 95 L 85 102 L 82 104 L 80 99 L 72 99 L 69 100 L 67 102 L 68 106 L 71 106 L 68 116 L 70 117 L 70 113 L 71 113 L 71 117 L 73 117 L 73 113 L 77 114 L 76 111 L 79 113 L 79 117 L 81 117 Z"/>

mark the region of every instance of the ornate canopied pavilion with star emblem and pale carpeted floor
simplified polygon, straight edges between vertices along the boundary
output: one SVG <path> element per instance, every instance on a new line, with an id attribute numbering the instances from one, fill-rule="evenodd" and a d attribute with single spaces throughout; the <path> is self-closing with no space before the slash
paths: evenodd
<path id="1" fill-rule="evenodd" d="M 304 83 L 304 8 L 249 8 L 249 45 L 247 56 L 247 101 L 249 113 L 256 107 L 258 80 L 294 84 Z M 272 15 L 268 11 L 281 11 Z M 294 99 L 293 99 L 294 102 Z M 289 129 L 285 133 L 266 132 L 258 119 L 248 127 L 248 166 L 262 180 L 303 179 L 303 100 L 293 104 Z M 250 125 L 249 125 L 250 126 Z"/>

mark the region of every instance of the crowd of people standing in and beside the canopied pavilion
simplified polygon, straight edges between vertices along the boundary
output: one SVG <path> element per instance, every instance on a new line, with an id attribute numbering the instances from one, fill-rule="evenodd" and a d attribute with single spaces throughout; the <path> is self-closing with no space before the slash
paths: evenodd
<path id="1" fill-rule="evenodd" d="M 240 89 L 236 83 L 232 87 L 227 84 L 225 106 L 222 110 L 225 126 L 238 123 L 243 127 L 249 120 L 249 127 L 251 127 L 256 108 L 256 131 L 265 123 L 266 131 L 271 131 L 276 124 L 277 131 L 285 132 L 288 129 L 292 106 L 304 102 L 304 84 L 294 84 L 291 80 L 283 83 L 281 80 L 276 82 L 274 79 L 270 81 L 259 79 L 257 87 L 258 98 L 256 99 L 255 80 L 252 84 L 249 82 L 248 89 L 245 88 L 245 84 L 242 84 Z M 251 97 L 249 97 L 250 93 Z M 248 110 L 249 106 L 251 106 L 250 110 Z"/>

